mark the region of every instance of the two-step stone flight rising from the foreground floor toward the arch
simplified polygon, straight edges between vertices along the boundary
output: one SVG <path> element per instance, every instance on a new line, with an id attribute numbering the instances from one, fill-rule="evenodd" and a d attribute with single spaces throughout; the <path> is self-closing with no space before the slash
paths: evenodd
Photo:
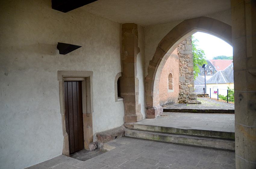
<path id="1" fill-rule="evenodd" d="M 125 136 L 170 143 L 180 143 L 218 149 L 235 150 L 235 133 L 225 131 L 201 130 L 190 127 L 164 127 L 134 123 L 126 129 Z"/>

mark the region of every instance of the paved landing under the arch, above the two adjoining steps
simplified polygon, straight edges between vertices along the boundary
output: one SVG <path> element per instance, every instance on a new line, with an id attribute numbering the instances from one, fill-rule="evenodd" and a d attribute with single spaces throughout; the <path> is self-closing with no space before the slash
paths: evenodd
<path id="1" fill-rule="evenodd" d="M 235 132 L 235 114 L 164 112 L 161 117 L 143 119 L 135 124 Z"/>

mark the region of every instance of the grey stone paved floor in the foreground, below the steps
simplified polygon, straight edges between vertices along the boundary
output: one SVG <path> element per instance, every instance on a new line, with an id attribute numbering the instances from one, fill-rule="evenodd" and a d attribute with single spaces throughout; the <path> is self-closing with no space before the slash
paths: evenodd
<path id="1" fill-rule="evenodd" d="M 121 137 L 108 143 L 117 148 L 87 161 L 60 155 L 28 169 L 229 169 L 235 152 Z"/>

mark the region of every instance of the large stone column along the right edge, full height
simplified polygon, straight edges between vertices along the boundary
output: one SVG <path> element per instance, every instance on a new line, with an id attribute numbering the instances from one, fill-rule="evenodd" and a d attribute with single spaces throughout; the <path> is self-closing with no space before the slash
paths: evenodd
<path id="1" fill-rule="evenodd" d="M 236 168 L 256 168 L 256 1 L 231 0 Z"/>

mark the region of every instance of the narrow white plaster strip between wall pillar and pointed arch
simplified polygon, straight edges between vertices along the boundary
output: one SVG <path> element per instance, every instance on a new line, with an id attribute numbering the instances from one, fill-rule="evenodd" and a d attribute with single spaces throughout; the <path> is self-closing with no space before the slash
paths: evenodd
<path id="1" fill-rule="evenodd" d="M 139 104 L 141 104 L 141 113 L 143 118 L 146 118 L 145 106 L 145 35 L 144 28 L 138 25 L 138 46 L 140 52 L 137 55 L 137 78 L 139 79 Z"/>

